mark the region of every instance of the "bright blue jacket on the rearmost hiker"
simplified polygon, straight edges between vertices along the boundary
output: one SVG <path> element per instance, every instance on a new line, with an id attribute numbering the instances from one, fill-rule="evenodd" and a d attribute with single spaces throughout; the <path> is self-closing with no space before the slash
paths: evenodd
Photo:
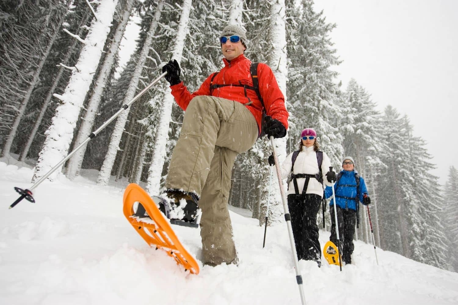
<path id="1" fill-rule="evenodd" d="M 356 210 L 356 201 L 348 198 L 356 198 L 356 179 L 354 178 L 354 174 L 357 173 L 357 171 L 341 171 L 341 173 L 342 177 L 340 177 L 339 181 L 334 186 L 334 190 L 336 192 L 336 205 L 342 209 Z M 367 194 L 366 183 L 364 182 L 363 177 L 360 177 L 360 198 L 358 202 L 363 202 L 363 195 L 365 193 Z M 333 188 L 326 187 L 324 195 L 326 198 L 333 197 Z M 334 200 L 331 199 L 329 205 L 333 204 Z"/>

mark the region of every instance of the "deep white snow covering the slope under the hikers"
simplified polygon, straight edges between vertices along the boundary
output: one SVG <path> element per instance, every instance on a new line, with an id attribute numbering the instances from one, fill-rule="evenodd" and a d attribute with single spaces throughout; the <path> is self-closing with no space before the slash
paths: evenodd
<path id="1" fill-rule="evenodd" d="M 94 171 L 34 190 L 37 203 L 9 205 L 32 170 L 0 162 L 0 305 L 300 304 L 287 227 L 264 228 L 230 212 L 240 265 L 202 266 L 199 230 L 174 226 L 200 264 L 185 273 L 154 251 L 122 214 L 125 181 L 95 184 Z M 240 212 L 240 211 L 239 211 Z M 246 214 L 245 214 L 246 216 Z M 329 232 L 320 232 L 322 246 Z M 300 261 L 311 304 L 458 304 L 458 273 L 355 242 L 354 264 Z"/>

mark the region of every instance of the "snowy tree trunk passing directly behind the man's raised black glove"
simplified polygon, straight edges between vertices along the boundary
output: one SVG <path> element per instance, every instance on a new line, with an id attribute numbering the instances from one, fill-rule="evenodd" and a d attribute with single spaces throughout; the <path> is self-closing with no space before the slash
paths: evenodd
<path id="1" fill-rule="evenodd" d="M 183 54 L 183 48 L 185 46 L 186 33 L 189 27 L 189 13 L 191 11 L 192 0 L 184 0 L 181 7 L 180 23 L 178 25 L 177 36 L 174 41 L 174 49 L 172 53 L 172 59 L 176 59 L 178 63 L 181 62 L 181 56 Z M 150 194 L 158 194 L 160 189 L 160 182 L 162 176 L 162 170 L 164 168 L 165 157 L 166 157 L 166 145 L 167 139 L 169 139 L 169 125 L 172 114 L 172 105 L 174 103 L 174 97 L 170 93 L 169 84 L 164 84 L 166 88 L 164 96 L 164 105 L 162 107 L 162 114 L 159 119 L 159 124 L 156 132 L 156 139 L 153 146 L 153 160 L 148 170 L 148 180 L 146 191 Z"/>

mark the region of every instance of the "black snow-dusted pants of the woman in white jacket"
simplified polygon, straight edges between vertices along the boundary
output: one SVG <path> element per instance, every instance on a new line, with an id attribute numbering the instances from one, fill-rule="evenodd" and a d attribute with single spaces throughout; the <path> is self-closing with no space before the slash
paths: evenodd
<path id="1" fill-rule="evenodd" d="M 291 214 L 297 258 L 321 262 L 316 214 L 320 210 L 321 196 L 316 194 L 289 194 L 288 209 Z"/>

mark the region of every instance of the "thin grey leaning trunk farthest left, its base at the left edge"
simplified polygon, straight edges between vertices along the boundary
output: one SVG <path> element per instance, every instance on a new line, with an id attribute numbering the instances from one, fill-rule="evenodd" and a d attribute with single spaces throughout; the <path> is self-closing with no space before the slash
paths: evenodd
<path id="1" fill-rule="evenodd" d="M 70 1 L 68 2 L 68 5 L 70 5 Z M 68 10 L 68 5 L 66 6 L 67 10 Z M 51 51 L 51 48 L 55 40 L 59 37 L 59 29 L 63 21 L 64 21 L 64 18 L 62 16 L 60 18 L 60 22 L 58 26 L 56 26 L 55 32 L 51 36 L 48 42 L 48 45 L 46 46 L 46 50 L 44 51 L 44 53 L 41 56 L 40 62 L 38 63 L 38 66 L 37 66 L 37 70 L 35 70 L 33 74 L 32 82 L 27 87 L 27 91 L 25 92 L 24 99 L 21 102 L 21 107 L 19 107 L 17 111 L 16 118 L 14 119 L 13 125 L 11 126 L 10 134 L 8 134 L 8 138 L 6 139 L 5 145 L 3 146 L 2 156 L 6 156 L 10 153 L 11 145 L 13 144 L 13 139 L 16 137 L 16 132 L 17 132 L 17 128 L 19 127 L 19 123 L 21 122 L 21 119 L 24 116 L 24 112 L 30 100 L 30 96 L 32 96 L 32 91 L 39 81 L 41 70 L 43 69 L 46 59 L 48 58 L 49 52 Z"/>

